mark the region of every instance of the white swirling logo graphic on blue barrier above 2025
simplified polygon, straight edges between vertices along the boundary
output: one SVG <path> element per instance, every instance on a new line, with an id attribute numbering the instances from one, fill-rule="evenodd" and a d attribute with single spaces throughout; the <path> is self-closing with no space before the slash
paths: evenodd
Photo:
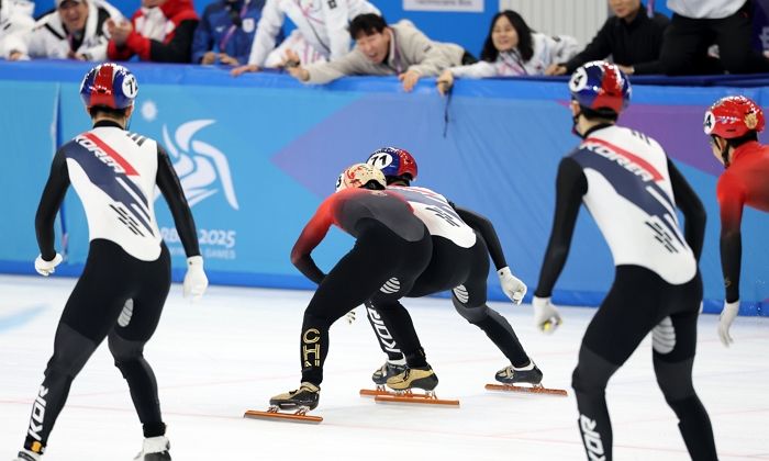
<path id="1" fill-rule="evenodd" d="M 216 123 L 215 120 L 193 120 L 176 130 L 174 140 L 168 135 L 168 128 L 163 125 L 163 142 L 174 161 L 174 169 L 190 206 L 208 199 L 219 191 L 215 188 L 218 179 L 224 196 L 234 210 L 238 210 L 235 188 L 232 183 L 227 157 L 214 146 L 192 137 L 202 128 Z"/>

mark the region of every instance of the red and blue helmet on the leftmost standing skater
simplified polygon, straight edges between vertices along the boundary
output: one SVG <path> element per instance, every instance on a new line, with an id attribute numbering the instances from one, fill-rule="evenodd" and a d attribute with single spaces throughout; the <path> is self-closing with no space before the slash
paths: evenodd
<path id="1" fill-rule="evenodd" d="M 80 85 L 80 98 L 88 109 L 126 109 L 133 105 L 136 93 L 136 77 L 114 63 L 96 66 L 86 74 Z"/>

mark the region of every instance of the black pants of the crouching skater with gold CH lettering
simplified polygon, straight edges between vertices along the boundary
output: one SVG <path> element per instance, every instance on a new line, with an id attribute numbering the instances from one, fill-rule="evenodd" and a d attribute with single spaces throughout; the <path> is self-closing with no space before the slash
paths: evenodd
<path id="1" fill-rule="evenodd" d="M 391 333 L 414 367 L 426 364 L 411 317 L 398 301 L 427 267 L 433 248 L 427 229 L 419 241 L 408 241 L 383 224 L 367 220 L 353 249 L 321 282 L 304 311 L 300 358 L 302 381 L 319 385 L 328 353 L 328 328 L 350 310 L 375 300 Z"/>

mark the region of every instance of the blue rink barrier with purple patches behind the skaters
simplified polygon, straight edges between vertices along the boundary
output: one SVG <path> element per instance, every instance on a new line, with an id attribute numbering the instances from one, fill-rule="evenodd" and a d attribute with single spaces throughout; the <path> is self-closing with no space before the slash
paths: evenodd
<path id="1" fill-rule="evenodd" d="M 2 272 L 34 273 L 34 214 L 51 158 L 56 146 L 89 126 L 78 95 L 88 67 L 0 63 Z M 408 94 L 394 77 L 307 87 L 277 72 L 232 78 L 216 67 L 130 67 L 140 81 L 131 131 L 166 146 L 192 205 L 213 283 L 312 289 L 289 260 L 296 238 L 342 169 L 395 145 L 417 158 L 416 185 L 441 191 L 494 223 L 531 300 L 550 232 L 557 165 L 578 143 L 570 134 L 565 79 L 458 80 L 449 99 L 436 93 L 433 79 Z M 644 80 L 654 85 L 640 85 Z M 761 81 L 756 76 L 693 80 L 704 87 L 682 86 L 691 79 L 634 79 L 633 103 L 621 124 L 657 138 L 702 199 L 709 214 L 701 260 L 705 312 L 720 312 L 715 183 L 723 169 L 710 153 L 702 116 L 722 95 L 740 92 L 764 104 L 769 90 L 754 86 Z M 183 250 L 167 207 L 158 204 L 156 211 L 180 280 Z M 742 314 L 767 315 L 766 228 L 766 214 L 746 211 Z M 67 261 L 57 274 L 77 276 L 88 226 L 71 191 L 56 231 L 59 250 L 67 234 Z M 327 271 L 350 245 L 350 237 L 332 229 L 313 257 Z M 598 305 L 612 280 L 611 255 L 582 210 L 554 302 Z M 489 282 L 490 299 L 506 300 L 493 272 Z"/>

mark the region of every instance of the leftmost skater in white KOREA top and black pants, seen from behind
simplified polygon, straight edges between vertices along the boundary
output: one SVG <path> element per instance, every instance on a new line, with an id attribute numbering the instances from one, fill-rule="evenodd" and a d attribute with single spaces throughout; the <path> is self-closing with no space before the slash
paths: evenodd
<path id="1" fill-rule="evenodd" d="M 73 380 L 104 338 L 144 428 L 136 460 L 171 459 L 157 382 L 143 355 L 170 288 L 170 257 L 155 220 L 156 185 L 188 256 L 185 295 L 200 297 L 208 280 L 194 221 L 168 155 L 154 139 L 125 131 L 137 91 L 126 68 L 111 63 L 92 68 L 80 95 L 93 128 L 62 146 L 53 159 L 35 217 L 41 251 L 35 269 L 49 276 L 63 260 L 55 249 L 54 221 L 70 183 L 86 211 L 90 246 L 15 461 L 41 460 Z"/>

